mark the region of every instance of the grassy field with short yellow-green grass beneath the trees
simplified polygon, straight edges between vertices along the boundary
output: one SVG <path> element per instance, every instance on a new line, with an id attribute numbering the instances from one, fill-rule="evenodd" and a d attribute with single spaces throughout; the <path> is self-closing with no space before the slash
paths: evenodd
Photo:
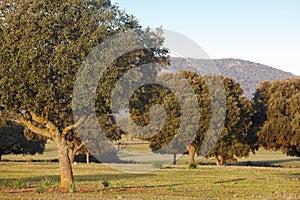
<path id="1" fill-rule="evenodd" d="M 0 163 L 0 199 L 300 199 L 300 159 L 280 152 L 259 151 L 224 167 L 197 158 L 197 169 L 188 169 L 183 156 L 176 166 L 135 174 L 77 163 L 74 193 L 58 189 L 58 165 L 47 162 L 54 158 L 51 143 L 44 155 L 3 156 L 15 162 Z M 240 166 L 248 164 L 273 167 Z"/>

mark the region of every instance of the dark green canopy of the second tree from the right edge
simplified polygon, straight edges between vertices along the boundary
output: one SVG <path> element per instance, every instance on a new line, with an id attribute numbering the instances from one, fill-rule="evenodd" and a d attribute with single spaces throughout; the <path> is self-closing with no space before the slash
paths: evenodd
<path id="1" fill-rule="evenodd" d="M 235 162 L 237 158 L 247 157 L 254 152 L 254 138 L 250 132 L 253 114 L 252 103 L 243 95 L 243 89 L 231 78 L 223 78 L 227 111 L 225 127 L 218 142 L 208 154 L 218 165 Z"/>

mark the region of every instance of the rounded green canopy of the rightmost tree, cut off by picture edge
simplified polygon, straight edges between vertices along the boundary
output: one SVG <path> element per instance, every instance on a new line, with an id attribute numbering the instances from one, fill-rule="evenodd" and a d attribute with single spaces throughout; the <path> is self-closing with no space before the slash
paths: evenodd
<path id="1" fill-rule="evenodd" d="M 255 93 L 253 130 L 258 145 L 300 156 L 300 79 L 263 82 Z"/>

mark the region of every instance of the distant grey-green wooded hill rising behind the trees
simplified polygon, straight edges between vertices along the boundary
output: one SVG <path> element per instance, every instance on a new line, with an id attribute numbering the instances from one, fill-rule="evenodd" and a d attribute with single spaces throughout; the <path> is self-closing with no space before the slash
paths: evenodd
<path id="1" fill-rule="evenodd" d="M 218 72 L 212 66 L 216 66 Z M 261 81 L 274 81 L 295 77 L 292 73 L 240 59 L 202 60 L 172 57 L 171 68 L 168 70 L 179 71 L 183 69 L 192 71 L 196 69 L 201 74 L 218 73 L 225 77 L 233 78 L 240 83 L 248 99 L 253 98 L 253 94 Z"/>

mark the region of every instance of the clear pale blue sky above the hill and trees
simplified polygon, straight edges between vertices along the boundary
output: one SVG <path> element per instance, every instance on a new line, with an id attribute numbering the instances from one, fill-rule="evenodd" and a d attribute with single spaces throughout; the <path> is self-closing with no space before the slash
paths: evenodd
<path id="1" fill-rule="evenodd" d="M 197 42 L 210 58 L 240 58 L 300 75 L 299 0 L 113 0 L 142 26 Z"/>

